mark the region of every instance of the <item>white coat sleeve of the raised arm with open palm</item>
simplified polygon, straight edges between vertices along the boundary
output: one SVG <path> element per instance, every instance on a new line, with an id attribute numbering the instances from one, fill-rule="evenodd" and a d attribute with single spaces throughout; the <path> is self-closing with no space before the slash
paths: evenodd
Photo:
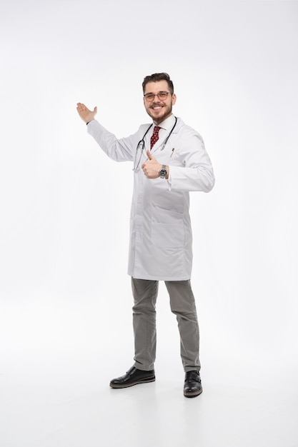
<path id="1" fill-rule="evenodd" d="M 136 134 L 123 139 L 116 139 L 114 134 L 101 126 L 95 119 L 87 125 L 88 134 L 93 136 L 101 149 L 114 161 L 131 161 L 134 159 Z"/>

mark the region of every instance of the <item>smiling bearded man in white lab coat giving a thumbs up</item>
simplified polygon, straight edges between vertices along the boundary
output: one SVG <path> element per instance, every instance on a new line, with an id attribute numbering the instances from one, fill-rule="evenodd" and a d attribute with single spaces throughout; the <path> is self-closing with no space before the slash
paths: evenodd
<path id="1" fill-rule="evenodd" d="M 134 297 L 134 365 L 111 380 L 126 388 L 155 380 L 155 304 L 164 281 L 172 312 L 177 316 L 185 372 L 184 396 L 202 393 L 199 376 L 199 326 L 190 284 L 192 228 L 189 191 L 211 191 L 214 174 L 202 137 L 172 114 L 174 86 L 166 73 L 146 76 L 144 106 L 153 123 L 136 134 L 116 139 L 94 119 L 97 113 L 77 104 L 88 133 L 115 161 L 133 161 L 129 268 Z"/>

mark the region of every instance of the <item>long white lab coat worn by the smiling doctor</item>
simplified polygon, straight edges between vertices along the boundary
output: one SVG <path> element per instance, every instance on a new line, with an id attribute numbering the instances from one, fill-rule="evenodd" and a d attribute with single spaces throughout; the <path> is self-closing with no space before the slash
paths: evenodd
<path id="1" fill-rule="evenodd" d="M 116 139 L 96 120 L 87 127 L 109 158 L 134 162 L 136 146 L 149 124 L 141 125 L 136 134 L 124 139 Z M 145 137 L 140 167 L 146 161 L 152 131 L 153 126 Z M 169 166 L 169 180 L 147 179 L 141 169 L 133 174 L 128 274 L 139 279 L 183 281 L 192 274 L 189 191 L 211 191 L 214 174 L 197 131 L 178 118 L 162 150 L 167 134 L 159 138 L 152 155 L 160 164 Z"/>

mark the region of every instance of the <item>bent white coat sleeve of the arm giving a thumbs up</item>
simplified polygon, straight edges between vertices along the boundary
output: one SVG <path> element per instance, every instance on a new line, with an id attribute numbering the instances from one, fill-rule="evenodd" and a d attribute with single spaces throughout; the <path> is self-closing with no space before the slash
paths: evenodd
<path id="1" fill-rule="evenodd" d="M 179 150 L 179 163 L 169 162 L 169 190 L 211 191 L 215 178 L 202 136 L 194 132 L 184 141 Z"/>

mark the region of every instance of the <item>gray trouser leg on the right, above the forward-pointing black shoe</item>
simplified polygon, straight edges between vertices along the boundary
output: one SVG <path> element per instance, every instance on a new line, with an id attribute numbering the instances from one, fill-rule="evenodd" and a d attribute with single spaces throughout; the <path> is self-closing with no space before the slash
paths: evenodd
<path id="1" fill-rule="evenodd" d="M 177 316 L 184 371 L 199 371 L 199 324 L 190 281 L 165 281 L 172 312 Z"/>

